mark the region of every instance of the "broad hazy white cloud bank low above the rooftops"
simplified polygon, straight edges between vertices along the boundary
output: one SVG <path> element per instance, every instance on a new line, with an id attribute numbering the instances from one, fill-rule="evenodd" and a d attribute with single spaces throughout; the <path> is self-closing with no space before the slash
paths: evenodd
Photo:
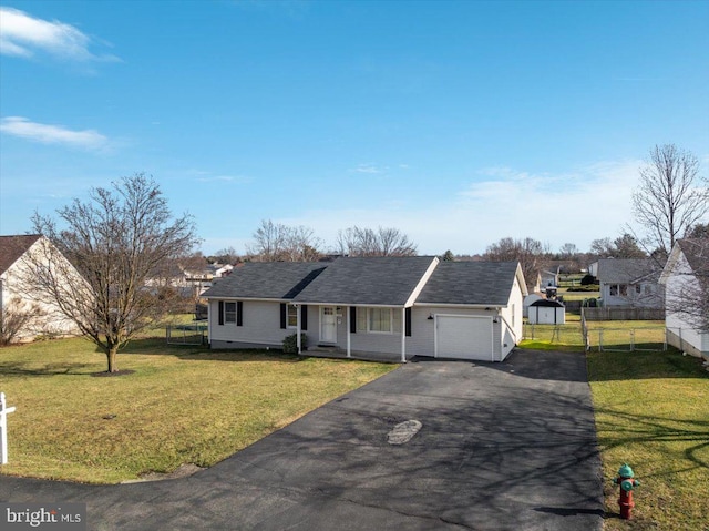
<path id="1" fill-rule="evenodd" d="M 338 229 L 352 225 L 397 227 L 421 254 L 449 248 L 482 253 L 506 236 L 530 236 L 548 243 L 552 251 L 567 242 L 587 249 L 593 239 L 616 237 L 633 221 L 630 196 L 638 166 L 639 161 L 597 163 L 563 175 L 485 169 L 456 195 L 434 202 L 373 202 L 366 208 L 318 210 L 275 221 L 309 226 L 330 245 Z"/>

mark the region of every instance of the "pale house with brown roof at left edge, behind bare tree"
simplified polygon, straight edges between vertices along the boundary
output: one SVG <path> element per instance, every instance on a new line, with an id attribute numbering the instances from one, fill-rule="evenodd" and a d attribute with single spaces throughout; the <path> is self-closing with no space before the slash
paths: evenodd
<path id="1" fill-rule="evenodd" d="M 3 336 L 17 327 L 14 340 L 31 340 L 37 336 L 75 334 L 75 325 L 66 319 L 58 306 L 39 293 L 32 284 L 32 266 L 52 244 L 45 237 L 34 235 L 0 236 L 0 312 Z M 61 256 L 54 248 L 58 256 Z M 71 272 L 79 273 L 63 257 Z M 75 278 L 74 278 L 75 280 Z M 71 280 L 68 280 L 71 282 Z"/>

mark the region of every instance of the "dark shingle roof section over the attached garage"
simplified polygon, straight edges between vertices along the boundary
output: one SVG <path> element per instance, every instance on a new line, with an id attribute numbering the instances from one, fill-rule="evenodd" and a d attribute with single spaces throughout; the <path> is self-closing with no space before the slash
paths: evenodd
<path id="1" fill-rule="evenodd" d="M 505 306 L 516 262 L 441 262 L 417 303 Z"/>

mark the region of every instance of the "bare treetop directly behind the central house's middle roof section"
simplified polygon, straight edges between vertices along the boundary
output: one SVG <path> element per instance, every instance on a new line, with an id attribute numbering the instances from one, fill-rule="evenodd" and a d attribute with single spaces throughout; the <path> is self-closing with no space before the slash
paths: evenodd
<path id="1" fill-rule="evenodd" d="M 361 228 L 338 232 L 337 246 L 349 256 L 415 256 L 417 246 L 398 228 Z"/>

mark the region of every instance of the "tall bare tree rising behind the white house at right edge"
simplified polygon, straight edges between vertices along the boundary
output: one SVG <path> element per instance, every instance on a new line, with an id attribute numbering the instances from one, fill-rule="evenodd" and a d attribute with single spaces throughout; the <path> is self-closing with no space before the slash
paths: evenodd
<path id="1" fill-rule="evenodd" d="M 677 238 L 709 211 L 709 187 L 698 174 L 699 160 L 674 144 L 656 145 L 640 169 L 633 194 L 636 222 L 648 249 L 669 255 Z"/>

